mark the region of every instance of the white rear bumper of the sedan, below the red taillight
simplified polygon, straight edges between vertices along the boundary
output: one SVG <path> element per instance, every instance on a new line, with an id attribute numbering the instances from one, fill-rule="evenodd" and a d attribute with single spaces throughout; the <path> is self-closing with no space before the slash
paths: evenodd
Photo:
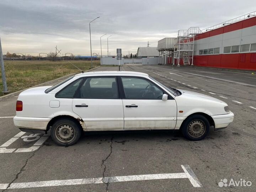
<path id="1" fill-rule="evenodd" d="M 46 130 L 51 118 L 14 117 L 14 125 L 23 129 Z"/>

